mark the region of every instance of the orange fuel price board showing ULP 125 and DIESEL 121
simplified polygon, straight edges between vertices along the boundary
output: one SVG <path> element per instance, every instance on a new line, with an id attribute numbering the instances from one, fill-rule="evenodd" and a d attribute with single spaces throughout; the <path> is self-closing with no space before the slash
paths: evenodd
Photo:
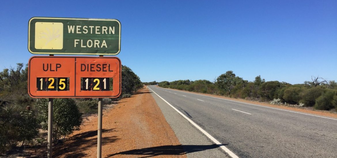
<path id="1" fill-rule="evenodd" d="M 34 98 L 109 97 L 121 94 L 118 57 L 33 56 L 28 94 Z"/>

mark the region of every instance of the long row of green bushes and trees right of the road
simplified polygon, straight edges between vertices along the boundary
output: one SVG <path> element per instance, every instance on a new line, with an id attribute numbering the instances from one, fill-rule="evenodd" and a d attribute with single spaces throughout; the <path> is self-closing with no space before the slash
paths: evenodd
<path id="1" fill-rule="evenodd" d="M 279 81 L 266 82 L 260 75 L 250 82 L 236 76 L 233 71 L 227 71 L 218 76 L 214 82 L 208 80 L 162 81 L 159 82 L 159 86 L 248 100 L 274 101 L 273 104 L 300 105 L 317 110 L 334 108 L 337 110 L 337 83 L 320 77 L 312 77 L 312 81 L 292 85 Z"/>

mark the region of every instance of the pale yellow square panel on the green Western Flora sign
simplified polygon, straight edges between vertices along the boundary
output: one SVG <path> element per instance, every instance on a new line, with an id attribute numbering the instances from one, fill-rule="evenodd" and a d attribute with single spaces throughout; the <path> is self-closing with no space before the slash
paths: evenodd
<path id="1" fill-rule="evenodd" d="M 63 23 L 35 23 L 35 49 L 62 49 Z"/>

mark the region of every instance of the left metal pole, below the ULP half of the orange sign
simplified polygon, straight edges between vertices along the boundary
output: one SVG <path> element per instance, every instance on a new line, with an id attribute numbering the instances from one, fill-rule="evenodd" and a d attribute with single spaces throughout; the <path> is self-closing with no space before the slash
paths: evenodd
<path id="1" fill-rule="evenodd" d="M 53 98 L 49 98 L 48 102 L 48 158 L 53 156 Z"/>

